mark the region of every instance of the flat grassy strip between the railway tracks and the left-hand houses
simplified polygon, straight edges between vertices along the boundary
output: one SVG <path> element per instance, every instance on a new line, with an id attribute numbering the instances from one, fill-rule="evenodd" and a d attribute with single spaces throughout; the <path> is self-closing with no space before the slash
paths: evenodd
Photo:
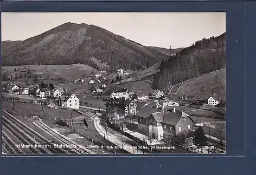
<path id="1" fill-rule="evenodd" d="M 8 111 L 12 112 L 12 115 L 17 113 L 18 116 L 27 115 L 30 116 L 42 116 L 42 106 L 37 104 L 30 104 L 30 103 L 20 103 L 15 102 L 15 111 L 12 111 L 12 102 L 11 101 L 3 101 L 2 107 L 7 109 Z M 61 112 L 61 118 L 69 119 L 71 117 L 78 117 L 80 116 L 78 113 L 74 112 L 73 110 L 62 110 L 62 109 L 49 109 L 48 107 L 43 107 L 43 115 L 45 118 L 59 118 Z"/>

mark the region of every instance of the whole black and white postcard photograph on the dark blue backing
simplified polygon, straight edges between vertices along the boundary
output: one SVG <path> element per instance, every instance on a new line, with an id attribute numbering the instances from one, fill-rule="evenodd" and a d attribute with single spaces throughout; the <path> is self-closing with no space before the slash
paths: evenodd
<path id="1" fill-rule="evenodd" d="M 225 12 L 3 12 L 2 154 L 226 153 Z"/>

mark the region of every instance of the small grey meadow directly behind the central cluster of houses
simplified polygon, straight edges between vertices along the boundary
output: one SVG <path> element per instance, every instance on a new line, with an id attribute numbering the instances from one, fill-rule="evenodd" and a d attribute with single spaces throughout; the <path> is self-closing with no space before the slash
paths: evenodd
<path id="1" fill-rule="evenodd" d="M 137 82 L 128 82 L 124 84 L 112 84 L 104 93 L 110 95 L 113 91 L 118 91 L 121 89 L 127 89 L 129 91 L 144 91 L 146 94 L 151 93 L 152 83 L 150 80 L 140 80 Z"/>

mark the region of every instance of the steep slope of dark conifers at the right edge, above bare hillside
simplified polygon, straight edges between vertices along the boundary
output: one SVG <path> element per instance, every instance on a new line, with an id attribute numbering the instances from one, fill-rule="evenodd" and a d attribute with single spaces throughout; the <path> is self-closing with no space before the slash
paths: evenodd
<path id="1" fill-rule="evenodd" d="M 160 72 L 153 78 L 153 87 L 168 90 L 174 84 L 225 68 L 225 64 L 226 32 L 218 37 L 204 38 L 163 60 Z"/>

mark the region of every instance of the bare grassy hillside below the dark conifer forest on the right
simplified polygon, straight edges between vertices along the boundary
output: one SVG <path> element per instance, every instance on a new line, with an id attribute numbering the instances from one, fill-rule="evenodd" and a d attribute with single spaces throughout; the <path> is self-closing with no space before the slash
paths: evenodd
<path id="1" fill-rule="evenodd" d="M 191 99 L 208 99 L 213 94 L 226 100 L 226 69 L 217 70 L 202 75 L 201 77 L 189 79 L 182 84 L 173 98 L 189 96 Z"/>

